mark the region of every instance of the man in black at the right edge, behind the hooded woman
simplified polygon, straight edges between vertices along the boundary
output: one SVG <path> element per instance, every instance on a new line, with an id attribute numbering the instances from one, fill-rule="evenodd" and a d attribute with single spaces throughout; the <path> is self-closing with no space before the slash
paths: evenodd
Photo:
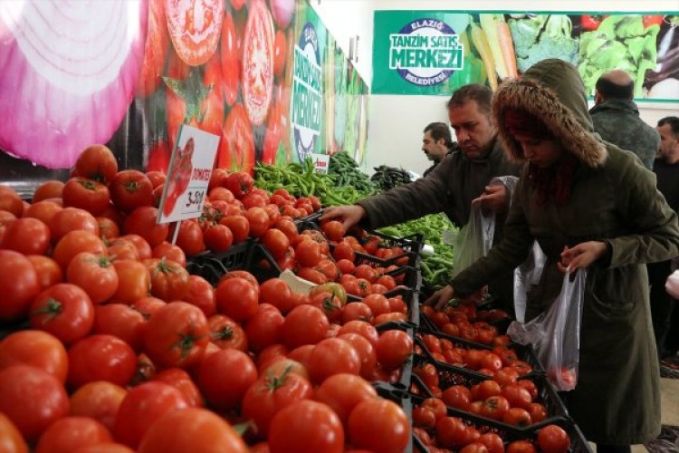
<path id="1" fill-rule="evenodd" d="M 655 128 L 660 134 L 658 157 L 653 164 L 656 186 L 665 196 L 667 204 L 679 212 L 679 117 L 669 116 L 658 121 Z M 675 361 L 679 349 L 679 316 L 674 313 L 677 301 L 665 290 L 665 281 L 672 274 L 672 261 L 662 261 L 646 265 L 648 281 L 651 284 L 651 319 L 655 333 L 658 356 Z"/>

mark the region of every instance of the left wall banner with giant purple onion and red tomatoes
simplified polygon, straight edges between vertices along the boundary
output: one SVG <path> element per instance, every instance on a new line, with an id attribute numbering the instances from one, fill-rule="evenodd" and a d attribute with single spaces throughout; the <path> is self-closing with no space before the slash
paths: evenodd
<path id="1" fill-rule="evenodd" d="M 0 34 L 0 180 L 68 169 L 92 143 L 167 171 L 182 124 L 219 135 L 230 170 L 363 158 L 368 87 L 308 0 L 16 0 Z"/>

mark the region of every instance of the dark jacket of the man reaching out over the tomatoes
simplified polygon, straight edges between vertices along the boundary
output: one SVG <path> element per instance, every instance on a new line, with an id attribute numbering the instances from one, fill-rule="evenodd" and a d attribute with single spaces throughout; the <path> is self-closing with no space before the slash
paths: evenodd
<path id="1" fill-rule="evenodd" d="M 364 224 L 379 228 L 445 212 L 456 226 L 464 226 L 472 200 L 491 179 L 518 175 L 518 171 L 519 166 L 507 158 L 497 140 L 486 159 L 467 159 L 462 151 L 449 153 L 425 178 L 359 201 L 368 214 Z"/>

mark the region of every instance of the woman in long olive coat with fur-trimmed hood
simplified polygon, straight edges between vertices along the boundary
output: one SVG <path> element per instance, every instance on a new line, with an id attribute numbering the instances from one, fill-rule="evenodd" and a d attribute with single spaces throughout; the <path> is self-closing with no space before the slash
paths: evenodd
<path id="1" fill-rule="evenodd" d="M 502 242 L 434 294 L 443 305 L 526 258 L 536 240 L 547 264 L 528 294 L 526 320 L 547 311 L 563 272 L 588 268 L 579 381 L 569 412 L 604 451 L 660 432 L 660 376 L 646 263 L 679 255 L 676 213 L 636 156 L 599 140 L 578 70 L 550 59 L 502 83 L 493 120 L 505 150 L 525 162 Z"/>

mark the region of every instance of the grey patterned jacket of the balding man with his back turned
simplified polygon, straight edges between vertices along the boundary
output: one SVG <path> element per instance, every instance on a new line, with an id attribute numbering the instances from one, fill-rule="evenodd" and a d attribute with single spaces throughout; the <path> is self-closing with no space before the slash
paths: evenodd
<path id="1" fill-rule="evenodd" d="M 646 169 L 653 169 L 655 153 L 660 148 L 660 134 L 639 118 L 634 101 L 603 101 L 592 107 L 589 114 L 594 130 L 602 139 L 634 152 Z"/>

